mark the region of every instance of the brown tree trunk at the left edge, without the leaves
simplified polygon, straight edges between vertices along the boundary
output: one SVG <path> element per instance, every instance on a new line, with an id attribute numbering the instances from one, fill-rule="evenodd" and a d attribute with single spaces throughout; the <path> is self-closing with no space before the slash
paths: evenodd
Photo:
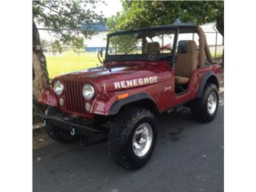
<path id="1" fill-rule="evenodd" d="M 42 52 L 38 29 L 33 20 L 33 112 L 44 113 L 45 106 L 38 102 L 40 93 L 49 84 L 49 76 L 46 68 L 46 57 Z M 33 115 L 33 123 L 40 119 Z"/>

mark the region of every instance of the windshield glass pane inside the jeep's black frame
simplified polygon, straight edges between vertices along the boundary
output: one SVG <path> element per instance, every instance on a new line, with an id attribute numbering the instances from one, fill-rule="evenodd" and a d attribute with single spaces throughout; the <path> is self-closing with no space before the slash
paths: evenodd
<path id="1" fill-rule="evenodd" d="M 140 55 L 169 55 L 174 44 L 174 30 L 127 32 L 109 37 L 108 55 L 139 57 Z"/>

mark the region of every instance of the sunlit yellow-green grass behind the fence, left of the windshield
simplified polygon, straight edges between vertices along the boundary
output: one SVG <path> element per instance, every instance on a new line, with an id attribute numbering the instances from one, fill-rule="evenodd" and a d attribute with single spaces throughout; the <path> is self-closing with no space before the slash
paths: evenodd
<path id="1" fill-rule="evenodd" d="M 83 52 L 78 56 L 74 51 L 65 51 L 56 56 L 46 55 L 46 61 L 50 79 L 63 73 L 88 69 L 100 64 L 95 52 Z"/>

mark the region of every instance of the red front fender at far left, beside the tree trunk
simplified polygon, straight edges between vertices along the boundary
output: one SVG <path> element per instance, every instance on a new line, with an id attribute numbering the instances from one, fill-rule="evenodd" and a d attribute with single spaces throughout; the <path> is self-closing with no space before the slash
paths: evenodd
<path id="1" fill-rule="evenodd" d="M 52 88 L 45 88 L 42 90 L 39 97 L 39 102 L 53 107 L 58 106 L 57 97 Z"/>

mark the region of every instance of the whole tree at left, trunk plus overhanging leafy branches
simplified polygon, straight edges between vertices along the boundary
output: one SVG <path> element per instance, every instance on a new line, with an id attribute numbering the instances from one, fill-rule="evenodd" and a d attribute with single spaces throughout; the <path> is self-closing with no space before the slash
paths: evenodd
<path id="1" fill-rule="evenodd" d="M 90 37 L 94 34 L 92 24 L 104 22 L 103 15 L 95 12 L 97 4 L 105 3 L 101 0 L 33 1 L 33 111 L 44 111 L 38 99 L 41 90 L 49 84 L 37 25 L 51 29 L 63 45 L 76 44 L 77 35 Z M 88 28 L 80 30 L 81 25 Z M 37 118 L 33 120 L 35 122 Z"/>

